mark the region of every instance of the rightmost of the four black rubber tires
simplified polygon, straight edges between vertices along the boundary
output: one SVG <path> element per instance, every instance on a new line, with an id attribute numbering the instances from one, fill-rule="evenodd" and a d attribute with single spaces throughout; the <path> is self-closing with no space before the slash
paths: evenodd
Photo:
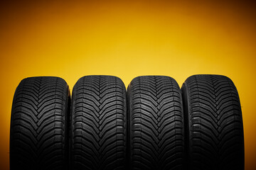
<path id="1" fill-rule="evenodd" d="M 181 91 L 188 169 L 244 169 L 242 112 L 233 81 L 194 75 Z"/>

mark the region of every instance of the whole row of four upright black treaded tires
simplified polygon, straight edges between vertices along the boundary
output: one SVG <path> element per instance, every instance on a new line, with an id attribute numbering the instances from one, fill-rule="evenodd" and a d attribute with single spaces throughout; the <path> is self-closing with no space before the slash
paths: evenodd
<path id="1" fill-rule="evenodd" d="M 244 169 L 238 91 L 194 75 L 181 89 L 142 76 L 23 79 L 11 111 L 10 169 Z"/>

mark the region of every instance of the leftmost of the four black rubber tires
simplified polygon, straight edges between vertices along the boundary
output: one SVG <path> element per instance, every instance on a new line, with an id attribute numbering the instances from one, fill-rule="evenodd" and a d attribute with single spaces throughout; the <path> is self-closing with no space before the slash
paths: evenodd
<path id="1" fill-rule="evenodd" d="M 18 85 L 11 111 L 10 169 L 66 169 L 69 88 L 58 77 Z"/>

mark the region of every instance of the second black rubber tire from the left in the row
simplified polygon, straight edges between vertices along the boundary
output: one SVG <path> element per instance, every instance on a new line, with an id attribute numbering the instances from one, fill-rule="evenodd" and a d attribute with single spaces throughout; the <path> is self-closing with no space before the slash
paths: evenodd
<path id="1" fill-rule="evenodd" d="M 86 76 L 75 84 L 71 112 L 71 169 L 124 169 L 125 87 L 112 76 Z"/>

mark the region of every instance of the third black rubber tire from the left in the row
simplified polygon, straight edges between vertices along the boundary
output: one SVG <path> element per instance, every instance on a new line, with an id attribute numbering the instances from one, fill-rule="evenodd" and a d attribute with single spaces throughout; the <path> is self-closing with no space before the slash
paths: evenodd
<path id="1" fill-rule="evenodd" d="M 176 81 L 137 77 L 127 93 L 130 169 L 184 169 L 183 106 Z"/>

